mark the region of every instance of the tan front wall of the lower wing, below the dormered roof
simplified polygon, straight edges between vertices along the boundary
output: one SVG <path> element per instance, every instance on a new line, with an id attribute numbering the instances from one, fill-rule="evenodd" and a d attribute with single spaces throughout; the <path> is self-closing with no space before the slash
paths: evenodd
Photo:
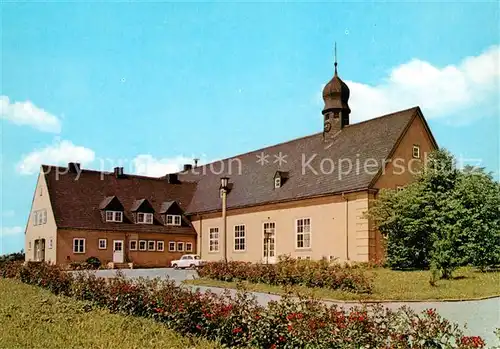
<path id="1" fill-rule="evenodd" d="M 85 239 L 85 253 L 73 252 L 73 239 Z M 99 239 L 106 239 L 106 249 L 99 248 Z M 124 242 L 125 260 L 133 262 L 136 266 L 165 267 L 170 265 L 170 261 L 179 259 L 183 254 L 196 253 L 195 235 L 173 235 L 161 233 L 126 233 L 104 230 L 84 230 L 84 229 L 59 229 L 57 261 L 59 264 L 70 262 L 83 262 L 89 257 L 97 257 L 101 263 L 106 264 L 113 261 L 113 241 L 122 240 Z M 163 241 L 164 251 L 131 251 L 130 240 Z M 170 241 L 192 243 L 193 252 L 169 252 L 168 243 Z M 185 248 L 184 248 L 185 249 Z"/>

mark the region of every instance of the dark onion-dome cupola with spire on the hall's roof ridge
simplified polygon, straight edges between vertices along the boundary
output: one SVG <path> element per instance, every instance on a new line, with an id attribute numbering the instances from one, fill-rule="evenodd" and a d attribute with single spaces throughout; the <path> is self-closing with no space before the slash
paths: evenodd
<path id="1" fill-rule="evenodd" d="M 349 125 L 349 87 L 337 73 L 337 48 L 335 47 L 335 74 L 323 89 L 323 108 L 325 138 L 331 138 L 342 128 Z"/>

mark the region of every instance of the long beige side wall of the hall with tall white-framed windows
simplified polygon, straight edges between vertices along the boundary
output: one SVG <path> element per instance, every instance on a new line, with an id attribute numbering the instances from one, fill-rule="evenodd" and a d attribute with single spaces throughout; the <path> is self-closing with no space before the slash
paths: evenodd
<path id="1" fill-rule="evenodd" d="M 346 201 L 347 199 L 347 201 Z M 369 257 L 368 221 L 364 212 L 368 207 L 368 193 L 334 195 L 292 203 L 275 204 L 229 210 L 227 217 L 228 259 L 245 261 L 263 260 L 263 224 L 276 224 L 276 255 L 289 254 L 292 257 L 310 256 L 311 259 L 330 258 L 339 260 L 365 261 Z M 348 209 L 346 215 L 346 208 Z M 223 259 L 222 218 L 209 215 L 197 217 L 193 225 L 198 233 L 198 253 L 206 260 Z M 347 218 L 346 218 L 347 217 Z M 201 219 L 200 219 L 201 218 Z M 296 220 L 311 219 L 311 248 L 296 248 Z M 346 225 L 346 222 L 348 223 Z M 234 226 L 245 225 L 246 250 L 234 251 Z M 209 252 L 209 229 L 218 227 L 220 248 L 218 253 Z M 346 244 L 346 229 L 349 243 Z M 347 255 L 347 248 L 349 252 Z"/>

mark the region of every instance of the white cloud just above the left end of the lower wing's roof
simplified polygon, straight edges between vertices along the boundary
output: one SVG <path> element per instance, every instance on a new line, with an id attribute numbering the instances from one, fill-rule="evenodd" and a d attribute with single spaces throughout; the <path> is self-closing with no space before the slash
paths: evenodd
<path id="1" fill-rule="evenodd" d="M 42 149 L 36 149 L 25 155 L 17 164 L 17 171 L 22 175 L 38 173 L 40 165 L 67 165 L 68 162 L 80 162 L 82 166 L 95 159 L 95 153 L 89 148 L 76 146 L 70 141 L 56 141 Z"/>

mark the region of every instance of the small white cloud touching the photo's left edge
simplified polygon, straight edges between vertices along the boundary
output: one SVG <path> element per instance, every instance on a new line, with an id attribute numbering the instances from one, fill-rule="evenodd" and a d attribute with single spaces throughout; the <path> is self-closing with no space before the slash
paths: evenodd
<path id="1" fill-rule="evenodd" d="M 17 125 L 29 125 L 43 132 L 61 132 L 61 121 L 30 101 L 12 102 L 0 96 L 0 117 Z"/>

